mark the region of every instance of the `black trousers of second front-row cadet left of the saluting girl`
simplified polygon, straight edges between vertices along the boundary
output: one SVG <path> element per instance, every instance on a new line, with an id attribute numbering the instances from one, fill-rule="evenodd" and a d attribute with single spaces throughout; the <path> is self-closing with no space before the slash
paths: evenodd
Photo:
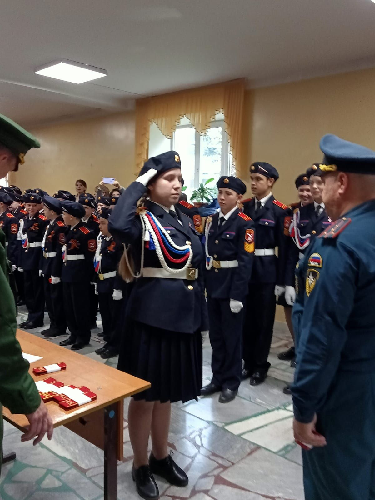
<path id="1" fill-rule="evenodd" d="M 89 286 L 89 281 L 62 283 L 66 323 L 75 343 L 88 344 L 91 338 Z"/>

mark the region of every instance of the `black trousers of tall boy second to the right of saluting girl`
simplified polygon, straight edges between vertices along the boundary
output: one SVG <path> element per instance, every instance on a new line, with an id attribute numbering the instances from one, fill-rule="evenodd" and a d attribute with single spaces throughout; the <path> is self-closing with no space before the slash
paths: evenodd
<path id="1" fill-rule="evenodd" d="M 267 372 L 276 296 L 274 283 L 254 283 L 248 288 L 243 322 L 243 361 L 250 372 Z"/>

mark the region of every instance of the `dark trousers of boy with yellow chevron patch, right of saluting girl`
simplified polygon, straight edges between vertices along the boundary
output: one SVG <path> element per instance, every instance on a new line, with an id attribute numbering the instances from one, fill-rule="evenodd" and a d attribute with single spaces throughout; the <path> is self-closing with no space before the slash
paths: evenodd
<path id="1" fill-rule="evenodd" d="M 242 368 L 243 309 L 234 314 L 229 298 L 207 297 L 209 341 L 212 347 L 212 383 L 237 390 Z"/>

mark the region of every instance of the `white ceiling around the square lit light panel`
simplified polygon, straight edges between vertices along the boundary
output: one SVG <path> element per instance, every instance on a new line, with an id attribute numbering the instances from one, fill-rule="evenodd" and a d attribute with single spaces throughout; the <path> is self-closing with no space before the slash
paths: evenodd
<path id="1" fill-rule="evenodd" d="M 263 86 L 375 66 L 370 0 L 0 0 L 0 112 L 24 125 L 246 77 Z M 108 76 L 33 73 L 64 57 Z"/>

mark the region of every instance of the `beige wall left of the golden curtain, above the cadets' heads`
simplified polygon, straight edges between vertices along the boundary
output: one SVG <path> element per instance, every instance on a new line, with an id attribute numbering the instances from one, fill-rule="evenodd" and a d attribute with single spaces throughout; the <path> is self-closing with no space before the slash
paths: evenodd
<path id="1" fill-rule="evenodd" d="M 57 189 L 75 193 L 78 178 L 86 181 L 87 192 L 103 176 L 128 185 L 134 179 L 134 119 L 134 112 L 125 112 L 33 129 L 41 147 L 26 154 L 9 182 L 49 194 Z"/>

